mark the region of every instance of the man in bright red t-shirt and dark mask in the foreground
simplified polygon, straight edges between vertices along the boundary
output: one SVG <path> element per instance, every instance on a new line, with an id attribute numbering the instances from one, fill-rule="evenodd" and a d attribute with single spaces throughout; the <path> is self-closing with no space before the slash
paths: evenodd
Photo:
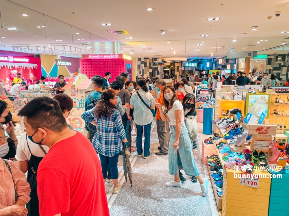
<path id="1" fill-rule="evenodd" d="M 108 202 L 101 164 L 90 141 L 69 130 L 57 101 L 35 98 L 19 113 L 28 138 L 49 152 L 37 170 L 41 216 L 107 216 Z"/>

